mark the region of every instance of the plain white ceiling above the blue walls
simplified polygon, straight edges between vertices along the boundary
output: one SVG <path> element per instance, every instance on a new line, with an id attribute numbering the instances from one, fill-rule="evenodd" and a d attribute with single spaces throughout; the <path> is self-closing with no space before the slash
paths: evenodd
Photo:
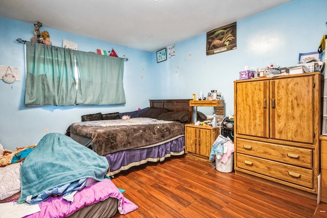
<path id="1" fill-rule="evenodd" d="M 0 0 L 0 17 L 153 52 L 291 1 Z"/>

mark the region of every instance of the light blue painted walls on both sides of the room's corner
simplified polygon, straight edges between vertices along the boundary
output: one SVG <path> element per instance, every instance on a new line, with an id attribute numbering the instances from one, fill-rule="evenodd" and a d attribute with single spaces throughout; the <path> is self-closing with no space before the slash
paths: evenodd
<path id="1" fill-rule="evenodd" d="M 118 106 L 26 107 L 24 45 L 17 38 L 30 40 L 34 26 L 0 17 L 0 65 L 19 67 L 21 81 L 13 88 L 0 81 L 0 143 L 15 150 L 37 143 L 49 132 L 65 133 L 80 116 L 96 112 L 125 112 L 144 108 L 149 99 L 190 99 L 192 93 L 221 91 L 225 114 L 233 114 L 233 81 L 245 65 L 265 67 L 297 64 L 298 54 L 317 51 L 321 37 L 327 34 L 325 0 L 295 0 L 269 11 L 237 20 L 237 50 L 206 56 L 206 33 L 175 43 L 176 57 L 156 63 L 156 53 L 70 34 L 46 27 L 53 45 L 62 40 L 76 42 L 80 51 L 113 49 L 125 62 L 126 104 Z M 44 24 L 45 25 L 45 24 Z M 218 27 L 217 27 L 218 28 Z M 212 108 L 198 108 L 212 113 Z"/>

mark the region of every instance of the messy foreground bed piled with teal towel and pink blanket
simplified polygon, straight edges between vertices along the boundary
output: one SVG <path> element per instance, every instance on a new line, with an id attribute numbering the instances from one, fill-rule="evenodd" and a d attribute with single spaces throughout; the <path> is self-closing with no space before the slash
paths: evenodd
<path id="1" fill-rule="evenodd" d="M 112 217 L 137 209 L 106 176 L 107 160 L 64 134 L 15 152 L 0 144 L 0 165 L 2 218 Z"/>

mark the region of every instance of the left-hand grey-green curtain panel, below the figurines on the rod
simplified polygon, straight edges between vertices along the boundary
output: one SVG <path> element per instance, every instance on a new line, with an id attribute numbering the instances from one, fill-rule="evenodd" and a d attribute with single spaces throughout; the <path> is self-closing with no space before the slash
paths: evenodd
<path id="1" fill-rule="evenodd" d="M 73 50 L 26 42 L 25 104 L 75 105 L 74 67 Z"/>

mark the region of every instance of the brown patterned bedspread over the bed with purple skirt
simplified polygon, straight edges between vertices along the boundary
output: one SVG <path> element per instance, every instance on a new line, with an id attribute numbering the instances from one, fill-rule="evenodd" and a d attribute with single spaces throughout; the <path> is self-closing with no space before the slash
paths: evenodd
<path id="1" fill-rule="evenodd" d="M 92 139 L 98 155 L 148 146 L 184 134 L 184 125 L 153 118 L 97 120 L 71 124 L 68 132 Z"/>

